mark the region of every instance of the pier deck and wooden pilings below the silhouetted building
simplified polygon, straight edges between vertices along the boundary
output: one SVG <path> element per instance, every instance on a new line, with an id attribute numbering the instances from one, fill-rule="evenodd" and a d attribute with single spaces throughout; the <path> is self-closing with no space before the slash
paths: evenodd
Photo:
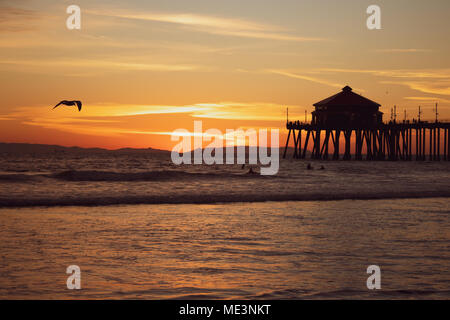
<path id="1" fill-rule="evenodd" d="M 295 159 L 304 159 L 311 145 L 311 159 L 339 160 L 342 154 L 343 160 L 450 161 L 448 122 L 391 121 L 347 127 L 295 121 L 287 122 L 286 128 L 289 133 L 283 158 L 292 136 Z"/>

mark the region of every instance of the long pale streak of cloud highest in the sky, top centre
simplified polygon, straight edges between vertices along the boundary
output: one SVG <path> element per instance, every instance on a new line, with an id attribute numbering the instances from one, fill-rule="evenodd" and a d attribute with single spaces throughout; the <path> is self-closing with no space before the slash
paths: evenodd
<path id="1" fill-rule="evenodd" d="M 224 36 L 297 42 L 324 40 L 322 38 L 292 35 L 279 27 L 241 19 L 220 18 L 196 14 L 118 13 L 100 11 L 88 11 L 88 13 L 122 19 L 177 24 L 189 27 L 193 31 Z"/>

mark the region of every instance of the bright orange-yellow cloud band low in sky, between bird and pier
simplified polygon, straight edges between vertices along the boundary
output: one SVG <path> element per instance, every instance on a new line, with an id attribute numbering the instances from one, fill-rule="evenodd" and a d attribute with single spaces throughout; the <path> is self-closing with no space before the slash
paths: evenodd
<path id="1" fill-rule="evenodd" d="M 271 124 L 275 123 L 275 126 L 278 123 L 281 126 L 285 121 L 286 107 L 289 107 L 290 115 L 293 117 L 299 117 L 299 111 L 303 111 L 303 108 L 299 106 L 263 102 L 213 102 L 181 106 L 84 103 L 83 111 L 80 113 L 74 112 L 70 108 L 62 108 L 55 112 L 51 110 L 51 106 L 22 107 L 11 111 L 9 114 L 0 115 L 0 120 L 14 120 L 25 125 L 93 136 L 170 135 L 171 132 L 165 131 L 165 127 L 161 131 L 147 131 L 145 127 L 136 127 L 136 123 L 140 123 L 137 120 L 141 116 L 166 114 L 169 121 L 169 128 L 167 129 L 169 130 L 170 119 L 173 119 L 172 114 L 182 114 L 186 119 L 270 121 Z M 130 117 L 134 118 L 130 119 Z M 164 119 L 164 117 L 158 119 Z M 160 122 L 160 120 L 153 121 Z"/>

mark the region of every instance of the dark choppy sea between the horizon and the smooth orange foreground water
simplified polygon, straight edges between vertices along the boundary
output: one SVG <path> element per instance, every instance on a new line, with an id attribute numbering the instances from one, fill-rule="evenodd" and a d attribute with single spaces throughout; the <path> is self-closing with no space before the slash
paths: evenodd
<path id="1" fill-rule="evenodd" d="M 0 207 L 450 198 L 448 162 L 329 162 L 320 163 L 325 170 L 319 163 L 306 170 L 307 162 L 285 161 L 277 175 L 261 176 L 240 165 L 64 160 L 7 162 L 0 172 Z"/>

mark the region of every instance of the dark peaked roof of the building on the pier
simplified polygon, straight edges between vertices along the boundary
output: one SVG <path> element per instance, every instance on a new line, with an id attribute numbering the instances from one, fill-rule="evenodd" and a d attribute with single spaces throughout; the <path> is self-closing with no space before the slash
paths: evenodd
<path id="1" fill-rule="evenodd" d="M 349 86 L 342 88 L 342 91 L 314 104 L 315 107 L 380 107 L 380 104 L 369 100 L 357 93 Z"/>

